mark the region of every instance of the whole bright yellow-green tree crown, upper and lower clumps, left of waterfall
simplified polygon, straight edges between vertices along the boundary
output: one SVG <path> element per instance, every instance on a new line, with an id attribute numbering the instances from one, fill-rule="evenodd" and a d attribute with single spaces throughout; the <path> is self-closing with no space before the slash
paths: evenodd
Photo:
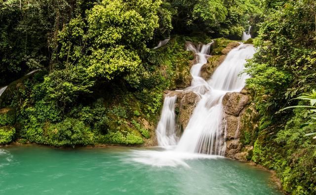
<path id="1" fill-rule="evenodd" d="M 127 82 L 137 84 L 135 73 L 141 64 L 138 53 L 147 50 L 146 42 L 158 28 L 160 3 L 159 0 L 103 0 L 86 12 L 86 18 L 72 19 L 59 34 L 62 68 L 67 64 L 67 69 L 76 71 L 79 69 L 72 67 L 82 66 L 87 69 L 87 79 L 126 78 Z M 75 88 L 67 82 L 63 87 Z"/>

